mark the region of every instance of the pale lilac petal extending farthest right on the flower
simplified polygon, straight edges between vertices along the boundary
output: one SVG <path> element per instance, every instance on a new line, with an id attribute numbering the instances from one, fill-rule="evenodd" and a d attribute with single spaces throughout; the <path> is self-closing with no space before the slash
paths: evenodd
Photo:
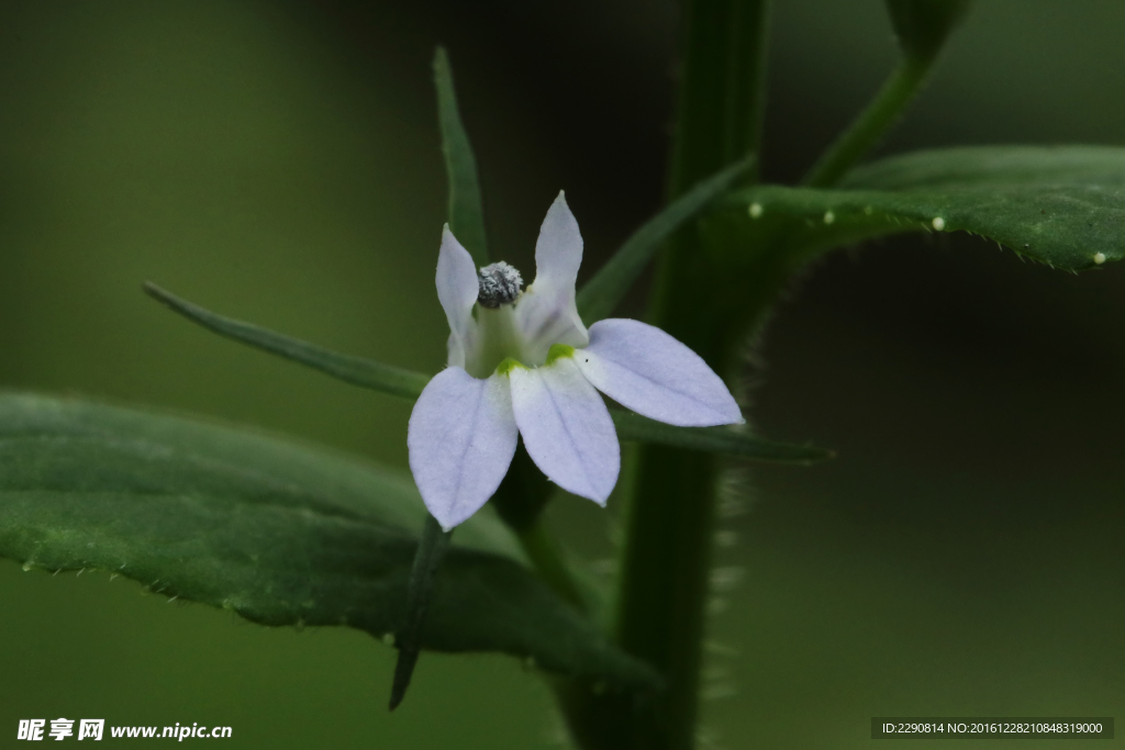
<path id="1" fill-rule="evenodd" d="M 745 422 L 726 383 L 699 354 L 645 323 L 595 323 L 590 346 L 574 359 L 594 387 L 646 417 L 681 427 Z"/>

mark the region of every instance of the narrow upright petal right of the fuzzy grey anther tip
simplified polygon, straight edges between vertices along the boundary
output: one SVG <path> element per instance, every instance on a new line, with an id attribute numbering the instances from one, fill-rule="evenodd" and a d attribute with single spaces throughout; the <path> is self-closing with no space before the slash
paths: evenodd
<path id="1" fill-rule="evenodd" d="M 578 222 L 560 192 L 539 228 L 536 280 L 516 304 L 529 364 L 544 362 L 551 344 L 580 347 L 590 341 L 574 301 L 582 247 Z"/>

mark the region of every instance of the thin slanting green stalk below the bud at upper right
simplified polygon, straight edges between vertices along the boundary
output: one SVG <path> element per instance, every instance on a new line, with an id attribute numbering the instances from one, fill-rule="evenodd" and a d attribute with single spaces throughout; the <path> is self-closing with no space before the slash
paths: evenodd
<path id="1" fill-rule="evenodd" d="M 936 54 L 906 55 L 867 108 L 809 170 L 802 184 L 827 188 L 855 166 L 894 125 L 902 110 L 921 89 L 936 57 Z"/>

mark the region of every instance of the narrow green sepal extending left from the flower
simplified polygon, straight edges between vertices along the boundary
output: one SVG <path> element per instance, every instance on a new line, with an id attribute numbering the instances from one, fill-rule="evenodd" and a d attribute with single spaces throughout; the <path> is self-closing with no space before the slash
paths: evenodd
<path id="1" fill-rule="evenodd" d="M 148 296 L 172 310 L 215 333 L 258 349 L 299 362 L 353 386 L 414 400 L 430 382 L 430 376 L 360 356 L 330 351 L 316 344 L 291 338 L 252 323 L 224 317 L 181 299 L 152 282 L 144 284 Z"/>

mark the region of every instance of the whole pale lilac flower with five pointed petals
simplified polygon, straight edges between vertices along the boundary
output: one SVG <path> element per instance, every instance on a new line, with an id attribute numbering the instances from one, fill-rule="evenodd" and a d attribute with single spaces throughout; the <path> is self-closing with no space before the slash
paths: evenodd
<path id="1" fill-rule="evenodd" d="M 422 499 L 447 531 L 500 487 L 518 435 L 548 479 L 605 505 L 621 450 L 597 390 L 674 425 L 744 422 L 722 380 L 659 328 L 619 318 L 586 329 L 574 290 L 582 249 L 560 192 L 539 231 L 536 280 L 519 293 L 514 269 L 494 264 L 478 274 L 446 227 L 438 299 L 449 320 L 449 367 L 414 405 L 406 443 Z"/>

